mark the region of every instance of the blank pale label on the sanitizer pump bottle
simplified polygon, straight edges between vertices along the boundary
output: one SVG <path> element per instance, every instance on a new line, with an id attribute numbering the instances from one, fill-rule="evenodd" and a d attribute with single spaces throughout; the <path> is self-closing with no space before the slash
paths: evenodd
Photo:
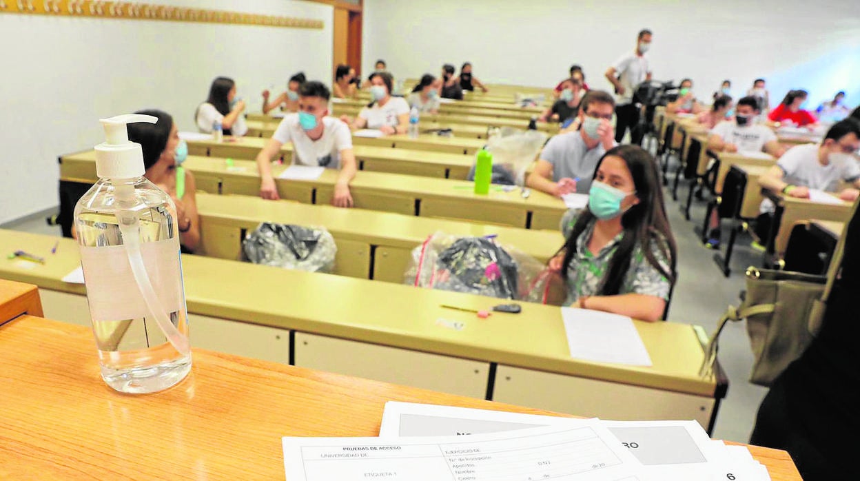
<path id="1" fill-rule="evenodd" d="M 184 295 L 178 239 L 140 244 L 140 253 L 163 308 L 168 313 L 179 311 Z M 81 266 L 94 322 L 150 317 L 125 246 L 81 247 Z"/>

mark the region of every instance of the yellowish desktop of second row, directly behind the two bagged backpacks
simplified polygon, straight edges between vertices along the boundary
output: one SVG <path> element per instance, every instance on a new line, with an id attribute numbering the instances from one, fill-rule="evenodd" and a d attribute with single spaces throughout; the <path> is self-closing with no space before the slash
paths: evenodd
<path id="1" fill-rule="evenodd" d="M 533 231 L 363 209 L 314 206 L 285 200 L 263 200 L 250 195 L 198 194 L 197 207 L 200 215 L 221 222 L 322 225 L 337 238 L 407 249 L 421 245 L 433 232 L 476 237 L 497 235 L 502 245 L 512 245 L 538 261 L 546 262 L 564 244 L 560 231 Z"/>

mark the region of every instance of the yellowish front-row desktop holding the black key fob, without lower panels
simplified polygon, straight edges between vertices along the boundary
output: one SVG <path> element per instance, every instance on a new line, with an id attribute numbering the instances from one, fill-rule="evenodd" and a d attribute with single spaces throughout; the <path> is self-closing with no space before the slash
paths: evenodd
<path id="1" fill-rule="evenodd" d="M 72 239 L 0 230 L 0 252 L 26 245 L 34 254 L 44 253 L 58 240 L 57 254 L 50 256 L 45 264 L 0 262 L 0 279 L 28 282 L 59 292 L 85 293 L 83 285 L 61 281 L 80 262 L 77 244 Z M 479 319 L 471 312 L 452 311 L 442 305 L 488 309 L 501 303 L 501 299 L 202 256 L 183 255 L 182 269 L 188 311 L 194 314 L 626 385 L 716 396 L 716 379 L 699 376 L 704 333 L 689 324 L 636 321 L 653 366 L 604 364 L 570 357 L 562 312 L 551 305 L 522 302 L 520 314 L 494 313 L 491 318 Z M 336 301 L 333 293 L 338 293 Z M 261 302 L 261 299 L 266 300 Z M 436 323 L 439 318 L 462 322 L 464 329 L 439 326 Z M 95 357 L 95 353 L 92 355 Z"/>

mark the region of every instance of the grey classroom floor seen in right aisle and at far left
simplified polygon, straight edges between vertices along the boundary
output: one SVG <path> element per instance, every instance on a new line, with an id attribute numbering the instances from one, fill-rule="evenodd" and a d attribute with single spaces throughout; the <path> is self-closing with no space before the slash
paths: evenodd
<path id="1" fill-rule="evenodd" d="M 749 238 L 741 236 L 740 247 L 734 252 L 733 272 L 728 279 L 724 278 L 713 261 L 714 251 L 704 249 L 693 231 L 694 225 L 700 224 L 704 218 L 704 202 L 694 201 L 691 220 L 687 221 L 679 208 L 680 200 L 686 199 L 686 184 L 679 188 L 679 201 L 672 200 L 668 189 L 664 189 L 664 193 L 679 250 L 679 283 L 675 287 L 669 320 L 701 325 L 710 334 L 728 305 L 737 304 L 738 293 L 744 288 L 746 267 L 760 265 L 761 256 L 749 249 Z M 44 217 L 26 219 L 3 227 L 57 236 L 60 234 L 59 227 L 47 225 Z M 729 386 L 728 396 L 723 399 L 716 418 L 713 433 L 716 439 L 749 441 L 756 410 L 765 396 L 765 388 L 746 381 L 753 355 L 745 326 L 731 324 L 722 334 L 719 360 L 728 375 Z"/>

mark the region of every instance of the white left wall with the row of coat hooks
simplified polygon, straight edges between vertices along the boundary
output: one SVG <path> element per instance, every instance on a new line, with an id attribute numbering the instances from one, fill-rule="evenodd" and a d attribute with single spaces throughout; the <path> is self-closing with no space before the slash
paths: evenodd
<path id="1" fill-rule="evenodd" d="M 0 223 L 58 205 L 61 154 L 103 141 L 100 118 L 161 108 L 181 130 L 212 78 L 250 111 L 296 71 L 331 82 L 334 9 L 298 0 L 149 3 L 319 19 L 319 29 L 0 14 Z"/>

